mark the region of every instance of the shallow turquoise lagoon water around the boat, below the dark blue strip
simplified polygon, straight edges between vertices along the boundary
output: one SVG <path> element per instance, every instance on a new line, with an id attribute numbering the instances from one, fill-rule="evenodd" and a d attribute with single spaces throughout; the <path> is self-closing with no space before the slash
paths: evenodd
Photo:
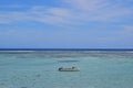
<path id="1" fill-rule="evenodd" d="M 0 88 L 133 88 L 133 52 L 0 52 Z"/>

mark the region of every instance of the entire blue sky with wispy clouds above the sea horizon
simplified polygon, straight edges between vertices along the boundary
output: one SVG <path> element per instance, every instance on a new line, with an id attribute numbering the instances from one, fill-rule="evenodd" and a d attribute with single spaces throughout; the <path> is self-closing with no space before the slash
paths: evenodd
<path id="1" fill-rule="evenodd" d="M 133 48 L 133 0 L 0 0 L 0 48 Z"/>

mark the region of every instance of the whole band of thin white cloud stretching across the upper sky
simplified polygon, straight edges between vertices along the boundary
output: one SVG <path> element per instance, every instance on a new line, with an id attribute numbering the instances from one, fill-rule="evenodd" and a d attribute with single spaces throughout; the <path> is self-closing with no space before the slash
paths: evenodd
<path id="1" fill-rule="evenodd" d="M 0 24 L 30 21 L 59 26 L 79 25 L 91 21 L 121 21 L 123 16 L 132 16 L 133 14 L 131 8 L 123 8 L 109 0 L 62 1 L 68 7 L 33 6 L 27 11 L 0 11 Z"/>

